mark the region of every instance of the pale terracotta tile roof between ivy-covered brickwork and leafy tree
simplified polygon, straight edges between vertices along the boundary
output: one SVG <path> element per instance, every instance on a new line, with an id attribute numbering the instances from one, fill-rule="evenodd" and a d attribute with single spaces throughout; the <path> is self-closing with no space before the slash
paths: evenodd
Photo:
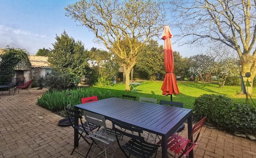
<path id="1" fill-rule="evenodd" d="M 48 62 L 48 57 L 30 55 L 28 58 L 32 68 L 51 67 L 50 62 Z"/>

